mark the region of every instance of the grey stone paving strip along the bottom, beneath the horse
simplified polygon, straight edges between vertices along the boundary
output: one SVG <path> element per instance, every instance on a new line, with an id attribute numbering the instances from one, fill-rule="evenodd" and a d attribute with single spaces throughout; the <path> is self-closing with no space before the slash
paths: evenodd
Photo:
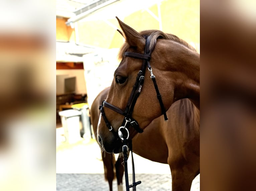
<path id="1" fill-rule="evenodd" d="M 129 174 L 132 183 L 132 175 Z M 136 181 L 142 183 L 136 187 L 138 191 L 171 191 L 170 174 L 136 174 Z M 125 190 L 125 178 L 123 177 Z M 57 191 L 108 191 L 109 185 L 104 174 L 56 174 Z M 130 189 L 132 190 L 132 188 Z M 117 191 L 117 180 L 113 181 L 113 191 Z M 191 186 L 191 191 L 200 191 L 200 175 Z"/>

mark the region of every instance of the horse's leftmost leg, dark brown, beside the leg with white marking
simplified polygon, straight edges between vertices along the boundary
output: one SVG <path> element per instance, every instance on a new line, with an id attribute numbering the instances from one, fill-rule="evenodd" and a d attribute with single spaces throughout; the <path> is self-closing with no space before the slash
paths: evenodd
<path id="1" fill-rule="evenodd" d="M 114 180 L 114 162 L 115 156 L 112 153 L 102 152 L 101 153 L 103 165 L 104 165 L 104 174 L 105 179 L 108 180 L 109 190 L 112 191 L 112 182 Z"/>

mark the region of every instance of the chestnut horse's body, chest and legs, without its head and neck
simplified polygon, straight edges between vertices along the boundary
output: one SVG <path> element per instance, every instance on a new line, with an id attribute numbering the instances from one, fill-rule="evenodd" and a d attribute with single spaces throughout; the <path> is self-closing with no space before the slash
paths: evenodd
<path id="1" fill-rule="evenodd" d="M 107 98 L 109 89 L 103 90 L 91 106 L 91 120 L 95 137 L 97 137 L 100 116 L 98 107 Z M 200 170 L 199 112 L 189 99 L 181 99 L 167 110 L 169 116 L 176 113 L 182 114 L 183 123 L 180 123 L 179 126 L 175 125 L 173 118 L 166 123 L 160 116 L 154 119 L 143 133 L 138 133 L 133 137 L 132 147 L 134 153 L 146 159 L 170 165 L 173 190 L 190 190 L 191 183 Z M 196 125 L 187 125 L 189 120 L 193 120 Z M 112 191 L 114 167 L 116 168 L 118 190 L 122 191 L 123 158 L 119 156 L 116 162 L 113 153 L 106 152 L 104 154 L 102 151 L 102 159 L 110 191 Z"/>

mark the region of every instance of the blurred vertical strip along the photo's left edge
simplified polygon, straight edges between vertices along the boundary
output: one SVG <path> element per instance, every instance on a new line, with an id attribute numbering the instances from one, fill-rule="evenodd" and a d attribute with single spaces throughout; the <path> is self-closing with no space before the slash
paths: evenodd
<path id="1" fill-rule="evenodd" d="M 0 190 L 55 189 L 55 23 L 52 1 L 0 2 Z"/>

